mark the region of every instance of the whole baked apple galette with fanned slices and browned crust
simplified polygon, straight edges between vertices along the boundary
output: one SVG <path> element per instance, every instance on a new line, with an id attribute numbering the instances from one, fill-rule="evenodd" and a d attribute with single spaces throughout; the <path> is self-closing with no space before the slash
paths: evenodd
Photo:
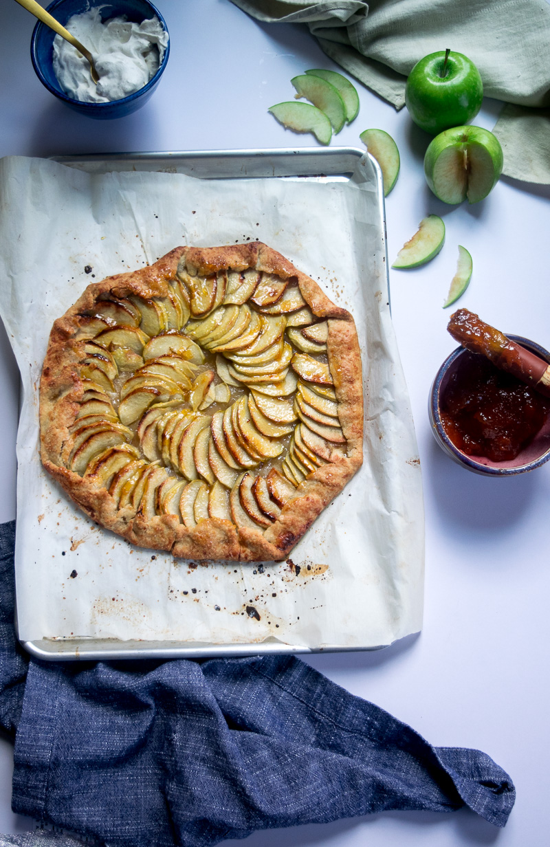
<path id="1" fill-rule="evenodd" d="M 45 468 L 134 544 L 285 558 L 362 462 L 353 318 L 268 246 L 177 247 L 56 320 L 40 424 Z"/>

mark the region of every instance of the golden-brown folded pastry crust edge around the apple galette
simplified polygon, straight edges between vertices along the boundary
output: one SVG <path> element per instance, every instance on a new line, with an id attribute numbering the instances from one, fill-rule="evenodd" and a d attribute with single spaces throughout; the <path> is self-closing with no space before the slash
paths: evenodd
<path id="1" fill-rule="evenodd" d="M 83 394 L 76 365 L 76 331 L 97 300 L 107 293 L 117 297 L 136 294 L 145 298 L 166 296 L 182 257 L 190 274 L 255 268 L 286 280 L 295 277 L 312 312 L 329 321 L 327 353 L 338 401 L 338 417 L 347 439 L 347 454 L 331 461 L 297 486 L 297 495 L 283 507 L 280 518 L 268 529 L 239 529 L 234 523 L 208 518 L 190 529 L 173 515 L 140 518 L 133 510 L 118 510 L 105 488 L 63 466 L 64 442 L 74 423 Z M 170 551 L 174 556 L 198 561 L 278 561 L 286 558 L 307 529 L 353 477 L 363 462 L 363 388 L 361 357 L 355 324 L 350 313 L 335 306 L 319 285 L 297 270 L 280 253 L 260 242 L 220 247 L 176 247 L 153 265 L 115 274 L 88 285 L 75 305 L 58 318 L 50 334 L 40 384 L 42 463 L 72 500 L 94 521 L 136 545 Z"/>

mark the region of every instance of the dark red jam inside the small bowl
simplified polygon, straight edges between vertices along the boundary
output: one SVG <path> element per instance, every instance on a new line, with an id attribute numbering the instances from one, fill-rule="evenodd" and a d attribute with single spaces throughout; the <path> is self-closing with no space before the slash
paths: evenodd
<path id="1" fill-rule="evenodd" d="M 542 428 L 550 400 L 484 356 L 461 359 L 440 401 L 445 432 L 468 456 L 514 459 Z"/>

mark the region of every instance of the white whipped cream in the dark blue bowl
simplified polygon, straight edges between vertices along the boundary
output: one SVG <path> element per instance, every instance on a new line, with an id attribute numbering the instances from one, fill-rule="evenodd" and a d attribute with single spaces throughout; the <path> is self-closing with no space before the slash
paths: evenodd
<path id="1" fill-rule="evenodd" d="M 125 16 L 102 23 L 100 9 L 69 18 L 65 28 L 92 53 L 99 82 L 90 65 L 61 36 L 53 40 L 53 70 L 65 94 L 82 102 L 103 103 L 128 97 L 153 79 L 163 60 L 168 33 L 158 18 L 133 24 Z"/>

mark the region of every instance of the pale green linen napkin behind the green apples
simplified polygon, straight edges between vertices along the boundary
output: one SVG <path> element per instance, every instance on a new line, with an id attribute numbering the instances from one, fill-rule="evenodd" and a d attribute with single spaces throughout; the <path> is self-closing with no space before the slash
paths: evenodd
<path id="1" fill-rule="evenodd" d="M 451 47 L 477 65 L 506 107 L 495 134 L 504 174 L 550 185 L 547 0 L 232 0 L 266 23 L 308 25 L 323 51 L 397 108 L 420 58 Z M 528 108 L 525 108 L 528 107 Z"/>

